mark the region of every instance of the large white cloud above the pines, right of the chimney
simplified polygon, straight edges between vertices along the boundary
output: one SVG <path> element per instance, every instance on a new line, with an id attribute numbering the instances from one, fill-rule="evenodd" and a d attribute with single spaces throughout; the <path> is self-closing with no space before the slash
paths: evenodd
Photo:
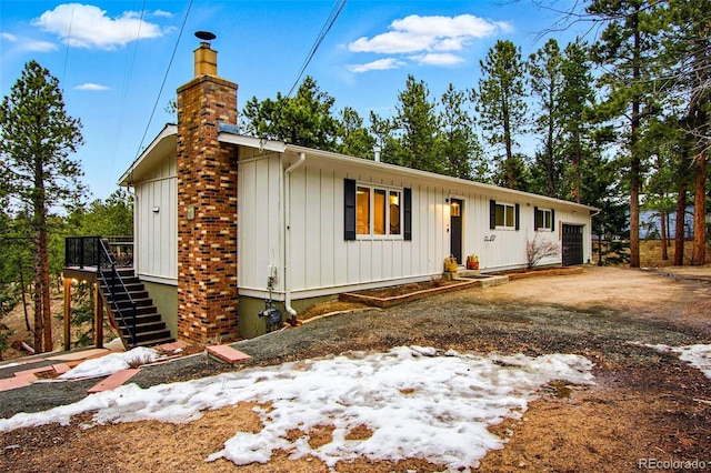
<path id="1" fill-rule="evenodd" d="M 412 53 L 459 51 L 472 39 L 510 30 L 509 23 L 493 22 L 473 14 L 420 17 L 412 14 L 390 23 L 390 29 L 372 38 L 359 38 L 348 48 L 353 52 Z"/>

